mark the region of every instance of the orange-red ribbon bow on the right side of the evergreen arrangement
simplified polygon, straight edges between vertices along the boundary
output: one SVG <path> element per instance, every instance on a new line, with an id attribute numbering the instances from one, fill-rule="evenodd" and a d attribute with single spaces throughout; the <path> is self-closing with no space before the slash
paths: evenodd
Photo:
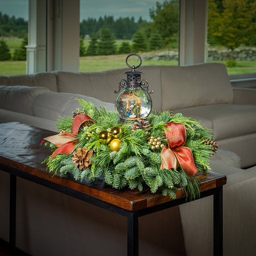
<path id="1" fill-rule="evenodd" d="M 168 122 L 164 129 L 168 147 L 161 152 L 161 169 L 177 169 L 179 164 L 188 177 L 192 177 L 198 169 L 194 164 L 193 154 L 190 148 L 183 146 L 186 142 L 186 129 L 183 124 Z"/>

